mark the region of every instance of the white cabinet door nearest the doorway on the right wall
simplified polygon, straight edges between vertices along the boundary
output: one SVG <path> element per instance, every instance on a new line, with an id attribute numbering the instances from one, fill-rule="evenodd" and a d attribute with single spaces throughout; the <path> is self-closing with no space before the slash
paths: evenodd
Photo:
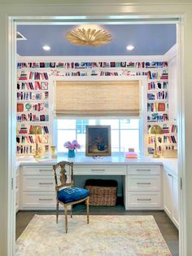
<path id="1" fill-rule="evenodd" d="M 175 223 L 177 228 L 179 227 L 179 188 L 178 179 L 173 177 L 173 188 L 172 188 L 172 221 Z"/>

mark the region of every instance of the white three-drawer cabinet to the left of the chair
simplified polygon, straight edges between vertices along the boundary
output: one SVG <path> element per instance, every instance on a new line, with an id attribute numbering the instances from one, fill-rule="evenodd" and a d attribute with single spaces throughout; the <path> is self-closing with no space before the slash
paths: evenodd
<path id="1" fill-rule="evenodd" d="M 55 209 L 55 178 L 51 166 L 22 166 L 20 209 Z"/>

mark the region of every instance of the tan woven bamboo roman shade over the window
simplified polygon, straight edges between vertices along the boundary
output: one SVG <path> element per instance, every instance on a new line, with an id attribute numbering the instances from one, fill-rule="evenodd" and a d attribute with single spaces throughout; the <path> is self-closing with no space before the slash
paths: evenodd
<path id="1" fill-rule="evenodd" d="M 139 81 L 55 83 L 56 116 L 137 116 Z"/>

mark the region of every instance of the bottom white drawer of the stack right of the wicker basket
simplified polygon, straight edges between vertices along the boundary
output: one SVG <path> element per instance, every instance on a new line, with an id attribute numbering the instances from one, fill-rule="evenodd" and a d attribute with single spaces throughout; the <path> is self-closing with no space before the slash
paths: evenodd
<path id="1" fill-rule="evenodd" d="M 129 208 L 159 208 L 161 206 L 160 192 L 129 192 Z"/>

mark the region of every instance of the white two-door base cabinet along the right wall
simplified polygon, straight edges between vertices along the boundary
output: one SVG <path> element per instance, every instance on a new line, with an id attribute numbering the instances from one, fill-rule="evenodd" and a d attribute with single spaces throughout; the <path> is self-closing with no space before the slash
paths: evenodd
<path id="1" fill-rule="evenodd" d="M 164 210 L 177 228 L 179 228 L 178 196 L 177 175 L 164 170 Z"/>

